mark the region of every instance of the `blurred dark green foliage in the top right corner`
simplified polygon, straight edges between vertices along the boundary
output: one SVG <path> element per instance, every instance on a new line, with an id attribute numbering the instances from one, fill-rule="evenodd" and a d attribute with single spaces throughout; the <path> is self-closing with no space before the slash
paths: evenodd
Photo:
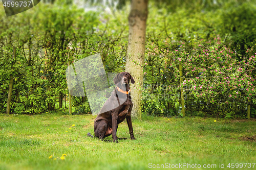
<path id="1" fill-rule="evenodd" d="M 229 3 L 224 10 L 218 11 L 221 14 L 220 34 L 226 38 L 225 41 L 229 46 L 244 55 L 247 48 L 252 48 L 256 42 L 255 3 L 249 2 L 242 5 Z"/>

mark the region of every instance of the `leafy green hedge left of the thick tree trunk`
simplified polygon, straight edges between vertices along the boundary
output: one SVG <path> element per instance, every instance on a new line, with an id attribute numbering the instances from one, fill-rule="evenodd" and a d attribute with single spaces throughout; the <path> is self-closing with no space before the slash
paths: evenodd
<path id="1" fill-rule="evenodd" d="M 40 3 L 36 7 L 1 18 L 1 110 L 6 108 L 9 78 L 13 74 L 12 113 L 65 111 L 62 98 L 68 96 L 68 53 L 71 62 L 99 53 L 106 72 L 124 69 L 126 41 L 122 40 L 122 33 L 127 27 L 120 21 L 121 15 L 84 12 L 76 6 L 58 3 Z M 13 46 L 17 47 L 16 59 L 11 57 Z M 72 105 L 80 106 L 86 100 L 74 97 Z M 87 105 L 82 112 L 89 111 Z"/>

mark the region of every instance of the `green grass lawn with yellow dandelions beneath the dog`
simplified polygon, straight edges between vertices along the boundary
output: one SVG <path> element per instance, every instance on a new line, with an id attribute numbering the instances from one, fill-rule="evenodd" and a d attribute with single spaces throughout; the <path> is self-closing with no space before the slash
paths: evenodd
<path id="1" fill-rule="evenodd" d="M 128 139 L 113 143 L 86 136 L 94 134 L 94 118 L 0 114 L 0 169 L 150 169 L 182 163 L 191 168 L 179 169 L 198 164 L 220 169 L 223 163 L 221 169 L 233 169 L 231 163 L 236 168 L 236 163 L 256 162 L 255 120 L 145 117 L 133 120 L 137 140 L 130 139 L 123 122 L 117 135 Z M 256 169 L 252 166 L 248 169 Z"/>

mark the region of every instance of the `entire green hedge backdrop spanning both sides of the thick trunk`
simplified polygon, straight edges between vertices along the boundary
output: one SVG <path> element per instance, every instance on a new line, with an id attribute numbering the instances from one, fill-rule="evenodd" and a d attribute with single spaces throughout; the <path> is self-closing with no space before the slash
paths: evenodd
<path id="1" fill-rule="evenodd" d="M 160 8 L 163 5 L 165 8 Z M 6 109 L 12 74 L 13 113 L 67 112 L 68 53 L 72 63 L 100 54 L 106 72 L 124 71 L 129 7 L 122 9 L 112 11 L 114 15 L 84 12 L 69 1 L 57 1 L 53 5 L 40 3 L 8 18 L 0 9 L 0 109 Z M 254 56 L 250 59 L 255 53 L 255 9 L 254 1 L 151 1 L 145 64 L 141 66 L 144 114 L 180 115 L 183 88 L 185 115 L 246 118 L 248 101 L 255 105 L 255 80 L 251 80 L 255 77 Z M 17 47 L 15 59 L 13 46 Z M 211 52 L 214 49 L 217 50 Z M 231 58 L 218 54 L 220 51 Z M 184 85 L 180 85 L 180 63 Z M 227 70 L 228 67 L 232 69 Z M 204 77 L 210 77 L 208 83 Z M 243 79 L 243 85 L 234 88 L 220 84 L 227 77 L 230 84 Z M 206 85 L 212 87 L 213 94 Z M 74 114 L 91 111 L 85 102 L 88 103 L 87 96 L 72 98 Z M 251 116 L 255 117 L 253 109 Z"/>

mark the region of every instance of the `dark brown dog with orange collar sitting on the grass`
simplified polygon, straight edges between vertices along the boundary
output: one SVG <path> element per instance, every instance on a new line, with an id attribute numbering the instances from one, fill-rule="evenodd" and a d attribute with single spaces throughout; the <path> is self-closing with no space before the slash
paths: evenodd
<path id="1" fill-rule="evenodd" d="M 116 136 L 118 124 L 123 122 L 125 118 L 129 127 L 131 139 L 135 139 L 131 119 L 133 103 L 130 95 L 130 80 L 132 84 L 135 83 L 129 72 L 120 72 L 114 78 L 114 83 L 117 87 L 101 108 L 100 114 L 98 114 L 94 120 L 94 134 L 99 140 L 102 140 L 104 137 L 110 136 L 111 134 L 114 142 L 118 142 L 117 139 L 126 139 L 118 138 Z M 110 110 L 109 108 L 113 109 Z M 90 133 L 87 135 L 93 137 Z"/>

